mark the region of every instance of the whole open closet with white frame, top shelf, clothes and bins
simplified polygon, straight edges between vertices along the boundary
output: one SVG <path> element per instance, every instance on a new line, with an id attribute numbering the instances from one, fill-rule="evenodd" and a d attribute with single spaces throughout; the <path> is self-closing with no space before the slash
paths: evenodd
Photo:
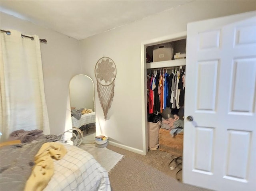
<path id="1" fill-rule="evenodd" d="M 144 155 L 168 152 L 182 169 L 186 32 L 142 43 L 142 54 Z"/>

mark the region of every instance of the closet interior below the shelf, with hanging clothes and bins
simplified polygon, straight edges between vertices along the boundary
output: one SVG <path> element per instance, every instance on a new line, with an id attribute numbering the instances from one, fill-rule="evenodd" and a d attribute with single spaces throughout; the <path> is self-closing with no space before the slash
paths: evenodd
<path id="1" fill-rule="evenodd" d="M 182 157 L 186 67 L 147 69 L 148 149 Z"/>

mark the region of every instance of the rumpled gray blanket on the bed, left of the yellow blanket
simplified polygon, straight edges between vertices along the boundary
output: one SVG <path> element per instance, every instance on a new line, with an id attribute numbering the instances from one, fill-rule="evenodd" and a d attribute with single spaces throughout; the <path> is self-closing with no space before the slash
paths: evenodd
<path id="1" fill-rule="evenodd" d="M 0 148 L 0 190 L 23 191 L 34 166 L 34 156 L 42 144 L 57 141 L 46 135 L 30 143 L 6 145 Z"/>

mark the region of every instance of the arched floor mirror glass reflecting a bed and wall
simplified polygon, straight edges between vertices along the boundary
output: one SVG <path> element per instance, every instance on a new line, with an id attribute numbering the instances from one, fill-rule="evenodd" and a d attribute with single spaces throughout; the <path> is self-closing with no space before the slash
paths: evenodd
<path id="1" fill-rule="evenodd" d="M 80 128 L 84 134 L 82 144 L 94 142 L 95 104 L 94 84 L 86 75 L 76 75 L 69 83 L 72 127 Z"/>

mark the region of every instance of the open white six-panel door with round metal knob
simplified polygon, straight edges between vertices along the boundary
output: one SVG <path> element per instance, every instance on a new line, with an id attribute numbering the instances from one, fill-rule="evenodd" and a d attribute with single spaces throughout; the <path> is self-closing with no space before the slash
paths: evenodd
<path id="1" fill-rule="evenodd" d="M 256 191 L 256 12 L 188 24 L 182 171 L 191 185 Z"/>

